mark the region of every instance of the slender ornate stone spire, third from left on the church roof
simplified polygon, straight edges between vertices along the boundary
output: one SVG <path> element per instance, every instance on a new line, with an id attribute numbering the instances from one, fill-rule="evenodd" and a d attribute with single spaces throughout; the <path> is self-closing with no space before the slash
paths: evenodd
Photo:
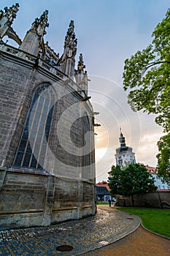
<path id="1" fill-rule="evenodd" d="M 77 38 L 74 34 L 74 21 L 71 20 L 66 33 L 63 56 L 61 61 L 61 71 L 70 77 L 74 76 L 75 56 L 77 53 Z"/>

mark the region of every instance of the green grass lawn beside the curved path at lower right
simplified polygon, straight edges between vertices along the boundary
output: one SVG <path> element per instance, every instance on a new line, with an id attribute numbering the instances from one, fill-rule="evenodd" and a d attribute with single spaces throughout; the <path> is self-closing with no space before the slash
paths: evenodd
<path id="1" fill-rule="evenodd" d="M 170 238 L 170 210 L 142 207 L 119 207 L 117 210 L 135 214 L 148 230 Z"/>

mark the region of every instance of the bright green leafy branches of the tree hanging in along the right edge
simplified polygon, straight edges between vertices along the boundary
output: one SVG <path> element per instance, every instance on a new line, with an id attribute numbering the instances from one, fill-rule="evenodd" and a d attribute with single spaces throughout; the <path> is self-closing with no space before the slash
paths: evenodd
<path id="1" fill-rule="evenodd" d="M 125 60 L 124 90 L 134 111 L 155 113 L 166 135 L 158 142 L 158 173 L 170 179 L 170 9 L 152 33 L 152 43 Z M 166 164 L 165 164 L 166 163 Z"/>

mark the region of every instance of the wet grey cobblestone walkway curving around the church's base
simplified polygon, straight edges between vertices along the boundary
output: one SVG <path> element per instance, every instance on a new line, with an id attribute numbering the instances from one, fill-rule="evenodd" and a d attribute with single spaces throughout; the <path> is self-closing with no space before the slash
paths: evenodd
<path id="1" fill-rule="evenodd" d="M 107 211 L 106 211 L 107 210 Z M 98 206 L 93 217 L 64 222 L 50 227 L 31 227 L 0 232 L 0 255 L 81 255 L 132 233 L 139 217 L 109 206 Z M 70 252 L 57 246 L 70 245 Z"/>

